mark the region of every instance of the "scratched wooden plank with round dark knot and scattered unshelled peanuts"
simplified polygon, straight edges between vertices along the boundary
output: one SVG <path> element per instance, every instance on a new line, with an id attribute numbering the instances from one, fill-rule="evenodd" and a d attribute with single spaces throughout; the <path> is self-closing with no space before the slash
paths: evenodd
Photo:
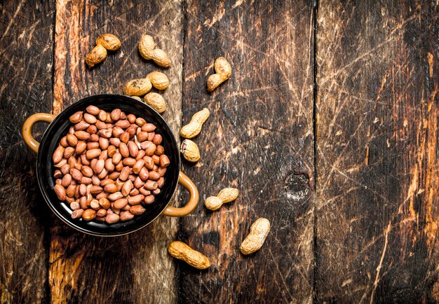
<path id="1" fill-rule="evenodd" d="M 312 1 L 187 1 L 183 123 L 207 107 L 194 141 L 201 161 L 184 163 L 203 199 L 227 186 L 238 200 L 201 205 L 179 239 L 203 251 L 209 270 L 180 267 L 182 303 L 290 303 L 313 298 Z M 231 78 L 208 93 L 215 58 Z M 184 194 L 183 198 L 187 195 Z M 271 221 L 264 247 L 239 247 L 255 219 Z"/>

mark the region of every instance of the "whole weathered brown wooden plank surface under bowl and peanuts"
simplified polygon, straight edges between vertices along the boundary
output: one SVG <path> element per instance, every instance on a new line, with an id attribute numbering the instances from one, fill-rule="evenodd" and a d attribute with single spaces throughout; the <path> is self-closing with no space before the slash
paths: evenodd
<path id="1" fill-rule="evenodd" d="M 2 1 L 1 303 L 438 301 L 439 4 L 396 2 Z M 88 69 L 106 32 L 122 48 Z M 145 33 L 172 67 L 140 57 Z M 208 93 L 219 56 L 233 74 Z M 69 228 L 41 196 L 22 123 L 156 69 L 176 137 L 195 111 L 212 114 L 201 161 L 182 163 L 200 205 L 123 237 Z M 207 212 L 226 186 L 238 200 Z M 243 256 L 258 217 L 271 232 Z M 212 266 L 175 261 L 172 240 Z"/>

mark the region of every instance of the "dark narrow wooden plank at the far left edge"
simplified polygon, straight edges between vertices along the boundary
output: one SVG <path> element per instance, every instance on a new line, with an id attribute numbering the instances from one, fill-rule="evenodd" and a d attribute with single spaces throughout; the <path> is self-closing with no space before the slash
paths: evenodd
<path id="1" fill-rule="evenodd" d="M 52 109 L 55 3 L 0 4 L 0 302 L 46 300 L 48 207 L 21 136 L 25 119 Z M 46 125 L 38 125 L 41 136 Z"/>

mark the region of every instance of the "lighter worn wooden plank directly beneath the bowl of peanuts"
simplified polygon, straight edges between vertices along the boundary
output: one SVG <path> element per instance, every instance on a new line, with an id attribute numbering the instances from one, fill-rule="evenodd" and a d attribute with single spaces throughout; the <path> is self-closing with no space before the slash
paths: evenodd
<path id="1" fill-rule="evenodd" d="M 57 1 L 54 109 L 63 109 L 87 95 L 122 93 L 123 83 L 158 69 L 137 50 L 149 33 L 168 52 L 173 66 L 163 69 L 170 87 L 164 118 L 175 134 L 182 102 L 181 1 Z M 116 34 L 122 48 L 95 67 L 83 58 L 98 35 Z M 177 196 L 176 196 L 177 198 Z M 171 202 L 176 204 L 176 202 Z M 90 237 L 56 221 L 50 230 L 51 300 L 86 303 L 172 303 L 176 299 L 175 267 L 167 247 L 177 219 L 159 217 L 136 233 L 111 239 Z"/>

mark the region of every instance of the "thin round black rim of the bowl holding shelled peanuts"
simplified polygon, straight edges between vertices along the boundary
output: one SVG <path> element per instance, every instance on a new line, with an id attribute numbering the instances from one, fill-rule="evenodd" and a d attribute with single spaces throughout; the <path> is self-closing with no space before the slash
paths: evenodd
<path id="1" fill-rule="evenodd" d="M 121 94 L 96 94 L 96 95 L 90 95 L 87 97 L 83 97 L 79 100 L 77 100 L 76 102 L 70 104 L 69 106 L 67 106 L 65 109 L 63 109 L 60 113 L 58 113 L 55 118 L 52 120 L 52 122 L 48 125 L 48 127 L 46 127 L 46 130 L 44 130 L 43 133 L 43 137 L 41 137 L 41 142 L 44 141 L 46 139 L 46 136 L 48 134 L 48 130 L 50 130 L 50 126 L 54 125 L 55 123 L 58 123 L 58 120 L 61 119 L 61 113 L 69 111 L 70 109 L 74 108 L 74 106 L 76 104 L 78 104 L 79 102 L 81 103 L 86 103 L 86 102 L 90 102 L 89 99 L 96 99 L 99 97 L 103 97 L 103 98 L 122 98 L 122 99 L 127 99 L 129 100 L 129 102 L 133 102 L 134 104 L 140 104 L 140 106 L 144 106 L 149 108 L 153 113 L 155 113 L 156 117 L 158 118 L 158 120 L 162 120 L 163 124 L 165 125 L 165 127 L 168 129 L 168 132 L 170 132 L 170 134 L 173 134 L 172 129 L 170 128 L 168 122 L 165 120 L 165 118 L 163 118 L 163 116 L 161 116 L 160 113 L 158 113 L 154 108 L 152 108 L 151 106 L 149 106 L 148 104 L 145 104 L 144 102 L 141 102 L 138 99 L 135 99 L 133 97 L 130 97 L 128 95 L 121 95 Z M 178 146 L 177 140 L 175 139 L 175 135 L 172 137 L 172 141 L 173 143 L 171 143 L 173 146 L 175 146 L 175 154 L 177 155 L 177 167 L 175 170 L 177 170 L 177 172 L 180 172 L 181 170 L 181 158 L 180 158 L 180 148 Z M 159 212 L 158 214 L 156 214 L 155 216 L 153 216 L 149 221 L 145 221 L 144 223 L 142 223 L 142 225 L 140 225 L 139 227 L 133 229 L 133 230 L 128 230 L 124 233 L 95 233 L 93 231 L 90 230 L 86 230 L 85 228 L 82 228 L 81 226 L 77 226 L 75 223 L 73 223 L 72 221 L 69 221 L 69 219 L 65 219 L 65 216 L 62 216 L 60 214 L 60 212 L 58 211 L 58 209 L 55 208 L 55 206 L 53 206 L 53 202 L 50 200 L 50 198 L 48 197 L 45 189 L 43 188 L 43 186 L 45 185 L 45 181 L 41 181 L 42 177 L 39 174 L 39 158 L 40 158 L 40 154 L 41 154 L 41 148 L 43 145 L 40 144 L 39 149 L 38 149 L 38 153 L 36 156 L 36 180 L 38 181 L 39 184 L 39 189 L 41 194 L 43 195 L 44 200 L 46 201 L 46 204 L 49 206 L 49 208 L 52 210 L 52 212 L 54 214 L 56 214 L 56 216 L 58 216 L 59 219 L 61 219 L 61 221 L 63 221 L 64 223 L 66 223 L 69 227 L 74 228 L 75 230 L 80 231 L 81 233 L 86 233 L 87 235 L 93 235 L 93 236 L 97 236 L 97 237 L 118 237 L 118 236 L 122 236 L 122 235 L 128 235 L 130 233 L 134 233 L 137 230 L 140 230 L 142 228 L 145 228 L 146 226 L 148 226 L 150 223 L 154 222 L 158 216 L 161 216 L 161 214 L 166 210 L 166 208 L 168 207 L 168 205 L 170 204 L 170 201 L 173 199 L 173 196 L 175 195 L 175 192 L 177 191 L 177 186 L 178 186 L 178 178 L 177 178 L 177 182 L 175 183 L 174 187 L 173 187 L 173 193 L 172 195 L 169 196 L 168 202 L 166 204 L 163 204 L 163 207 L 161 209 L 161 212 Z"/>

